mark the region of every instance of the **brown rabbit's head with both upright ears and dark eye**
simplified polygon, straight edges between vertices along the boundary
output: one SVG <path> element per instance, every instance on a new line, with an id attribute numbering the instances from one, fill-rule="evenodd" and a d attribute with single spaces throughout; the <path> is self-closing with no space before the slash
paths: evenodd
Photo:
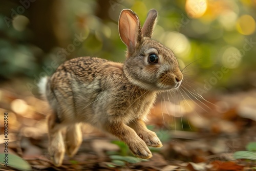
<path id="1" fill-rule="evenodd" d="M 127 47 L 123 71 L 127 79 L 146 90 L 178 88 L 183 79 L 174 53 L 151 39 L 157 11 L 148 12 L 143 27 L 138 16 L 124 9 L 119 16 L 119 35 Z"/>

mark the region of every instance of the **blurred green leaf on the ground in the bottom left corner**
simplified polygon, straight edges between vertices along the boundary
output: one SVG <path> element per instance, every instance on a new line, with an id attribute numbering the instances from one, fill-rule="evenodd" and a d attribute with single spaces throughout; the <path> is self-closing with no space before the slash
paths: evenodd
<path id="1" fill-rule="evenodd" d="M 0 158 L 1 158 L 0 163 L 7 164 L 4 162 L 5 157 L 6 157 L 6 154 L 0 154 Z M 29 165 L 29 163 L 16 155 L 8 154 L 7 162 L 8 162 L 8 166 L 11 166 L 19 170 L 31 170 L 31 166 Z"/>

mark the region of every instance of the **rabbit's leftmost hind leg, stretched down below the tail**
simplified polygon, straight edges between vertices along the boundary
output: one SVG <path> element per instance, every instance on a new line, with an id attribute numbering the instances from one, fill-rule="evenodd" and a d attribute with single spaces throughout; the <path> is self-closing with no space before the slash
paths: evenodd
<path id="1" fill-rule="evenodd" d="M 65 144 L 61 134 L 61 130 L 65 128 L 65 125 L 57 123 L 56 118 L 56 113 L 53 113 L 48 117 L 48 151 L 53 164 L 55 166 L 60 166 L 65 155 Z"/>

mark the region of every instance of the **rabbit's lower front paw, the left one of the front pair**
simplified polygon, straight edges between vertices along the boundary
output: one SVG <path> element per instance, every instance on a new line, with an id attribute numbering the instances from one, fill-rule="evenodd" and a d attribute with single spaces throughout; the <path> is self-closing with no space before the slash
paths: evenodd
<path id="1" fill-rule="evenodd" d="M 136 142 L 130 143 L 129 147 L 132 153 L 138 158 L 149 159 L 152 157 L 150 149 L 148 149 L 146 143 L 141 139 L 138 139 L 138 141 Z"/>

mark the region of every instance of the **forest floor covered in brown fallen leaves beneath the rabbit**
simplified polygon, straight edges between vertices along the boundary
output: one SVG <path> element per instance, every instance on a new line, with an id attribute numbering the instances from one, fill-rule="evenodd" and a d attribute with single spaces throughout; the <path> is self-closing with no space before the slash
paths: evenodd
<path id="1" fill-rule="evenodd" d="M 163 147 L 150 148 L 151 159 L 133 157 L 121 141 L 84 125 L 78 153 L 55 167 L 47 152 L 47 103 L 29 92 L 24 80 L 6 82 L 0 89 L 0 170 L 256 170 L 256 90 L 207 97 L 206 108 L 187 100 L 190 110 L 183 102 L 178 107 L 157 100 L 147 125 Z M 234 159 L 234 152 L 250 149 L 251 160 Z"/>

